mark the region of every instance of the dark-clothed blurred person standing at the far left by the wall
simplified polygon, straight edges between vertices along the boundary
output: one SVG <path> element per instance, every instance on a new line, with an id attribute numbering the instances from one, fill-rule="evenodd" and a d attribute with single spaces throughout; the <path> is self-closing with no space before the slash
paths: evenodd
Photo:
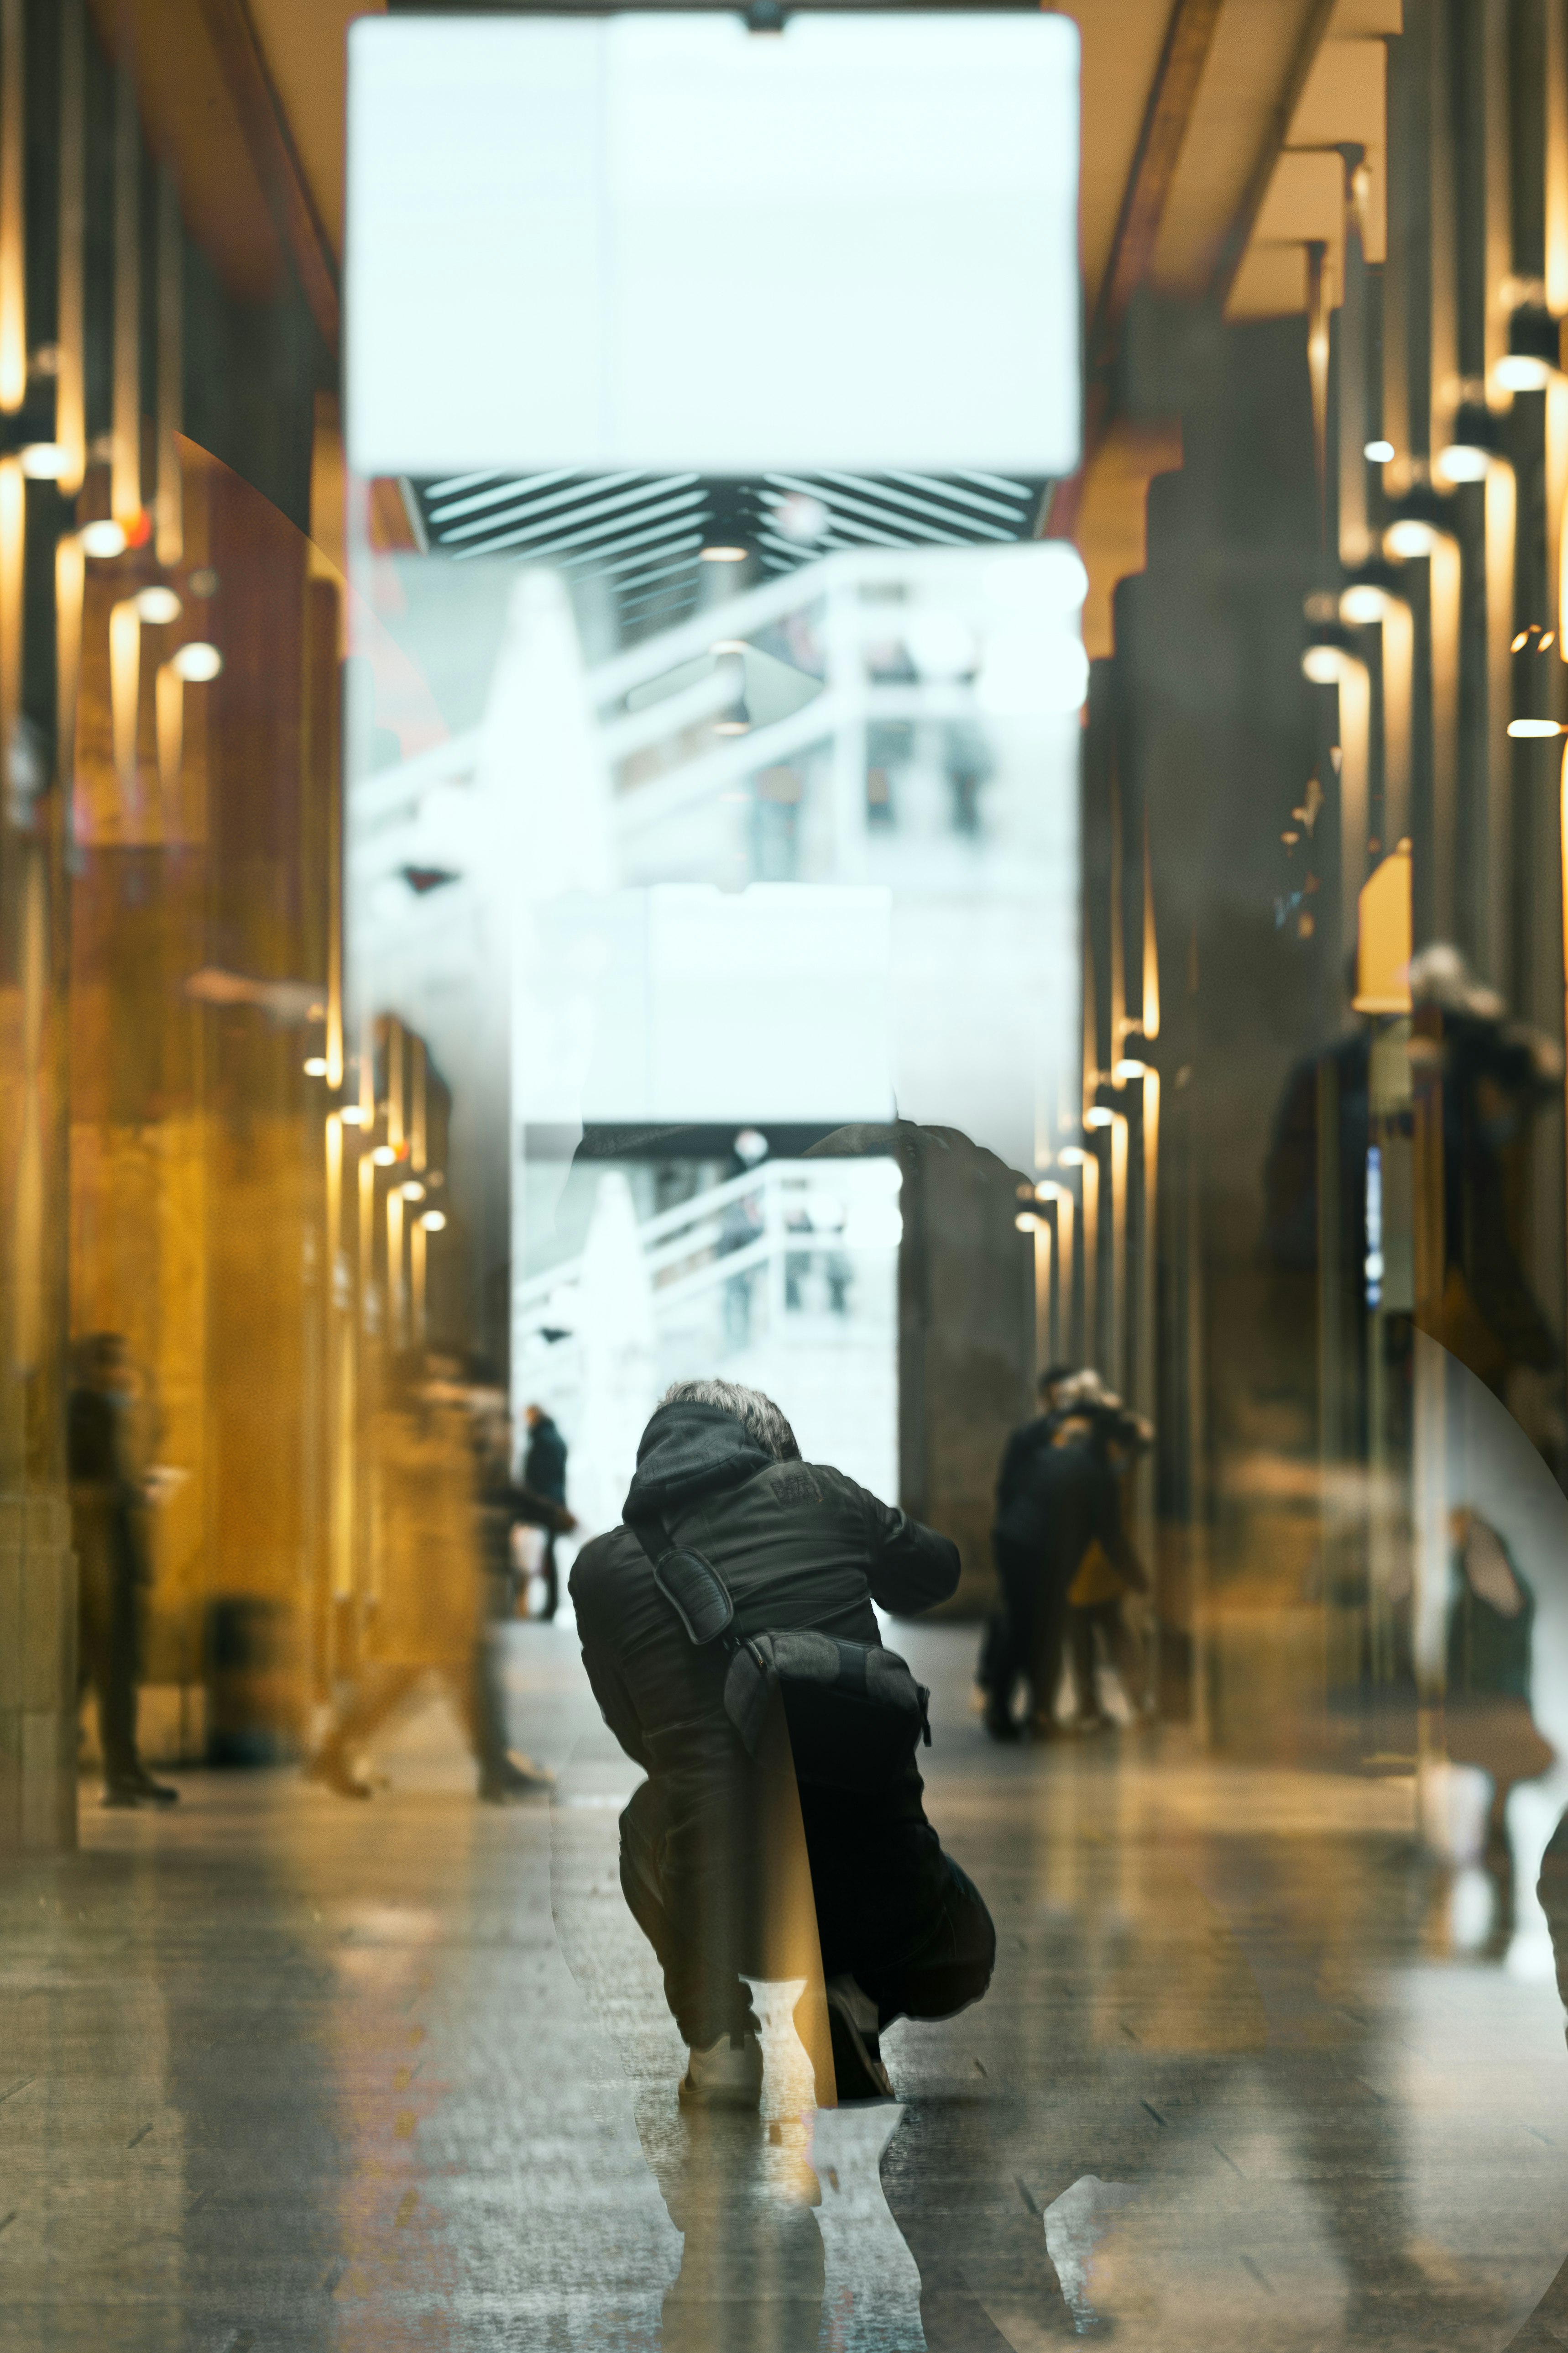
<path id="1" fill-rule="evenodd" d="M 136 1748 L 136 1682 L 153 1572 L 129 1433 L 136 1379 L 120 1334 L 94 1332 L 80 1341 L 73 1372 L 66 1466 L 80 1591 L 80 1680 L 82 1687 L 92 1682 L 99 1701 L 103 1805 L 174 1805 L 179 1791 L 155 1781 Z"/>

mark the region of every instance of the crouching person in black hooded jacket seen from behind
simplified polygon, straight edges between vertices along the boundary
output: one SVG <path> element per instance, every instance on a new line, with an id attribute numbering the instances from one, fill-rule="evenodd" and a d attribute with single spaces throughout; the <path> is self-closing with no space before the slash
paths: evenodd
<path id="1" fill-rule="evenodd" d="M 882 2031 L 954 2017 L 985 1993 L 997 1955 L 978 1889 L 926 1821 L 924 1694 L 879 1647 L 872 1612 L 872 1600 L 900 1617 L 945 1600 L 957 1546 L 839 1471 L 802 1464 L 778 1407 L 731 1381 L 665 1393 L 623 1508 L 625 1522 L 578 1553 L 571 1602 L 604 1720 L 649 1777 L 621 1817 L 621 1887 L 689 2045 L 682 2101 L 757 2106 L 762 2047 L 743 1977 L 804 1974 L 769 1965 L 792 1821 L 837 2097 L 886 2099 Z M 825 1680 L 790 1682 L 802 1661 Z M 907 1734 L 882 1694 L 917 1711 Z M 813 2049 L 804 2024 L 802 2040 Z"/>

